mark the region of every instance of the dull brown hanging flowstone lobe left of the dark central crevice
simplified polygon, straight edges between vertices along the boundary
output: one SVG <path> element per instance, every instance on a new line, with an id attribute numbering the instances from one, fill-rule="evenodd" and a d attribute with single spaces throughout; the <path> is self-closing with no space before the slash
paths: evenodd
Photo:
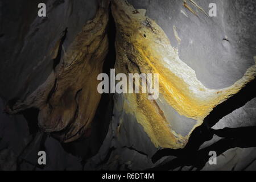
<path id="1" fill-rule="evenodd" d="M 54 71 L 25 100 L 7 105 L 6 111 L 18 113 L 30 107 L 39 109 L 39 127 L 63 142 L 71 142 L 90 133 L 101 95 L 97 92 L 104 59 L 108 53 L 109 9 L 99 7 L 95 17 L 85 22 L 75 40 L 66 49 Z M 60 41 L 51 51 L 57 56 Z"/>

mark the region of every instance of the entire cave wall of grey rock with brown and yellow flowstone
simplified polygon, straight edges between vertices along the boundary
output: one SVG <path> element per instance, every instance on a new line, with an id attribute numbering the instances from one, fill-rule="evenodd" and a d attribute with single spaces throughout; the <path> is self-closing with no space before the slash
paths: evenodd
<path id="1" fill-rule="evenodd" d="M 0 169 L 256 169 L 253 0 L 3 0 L 0 9 Z M 159 98 L 100 95 L 97 76 L 110 68 L 159 73 Z"/>

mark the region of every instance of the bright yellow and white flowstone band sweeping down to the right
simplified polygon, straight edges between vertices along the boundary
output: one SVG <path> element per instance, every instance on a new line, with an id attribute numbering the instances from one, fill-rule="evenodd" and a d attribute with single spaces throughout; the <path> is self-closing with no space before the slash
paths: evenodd
<path id="1" fill-rule="evenodd" d="M 182 148 L 189 135 L 215 106 L 221 104 L 254 79 L 256 66 L 247 69 L 245 75 L 228 88 L 213 90 L 196 78 L 171 46 L 162 28 L 147 16 L 144 10 L 135 10 L 123 0 L 112 1 L 112 13 L 117 25 L 117 73 L 159 73 L 159 92 L 164 100 L 180 115 L 196 119 L 191 132 L 182 137 L 168 125 L 156 101 L 147 94 L 124 94 L 123 108 L 133 114 L 156 147 Z"/>

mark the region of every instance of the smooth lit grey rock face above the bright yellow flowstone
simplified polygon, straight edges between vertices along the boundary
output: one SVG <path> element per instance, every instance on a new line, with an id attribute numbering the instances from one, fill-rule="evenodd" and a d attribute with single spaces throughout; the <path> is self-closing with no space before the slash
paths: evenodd
<path id="1" fill-rule="evenodd" d="M 254 64 L 256 40 L 251 39 L 256 35 L 253 0 L 188 0 L 188 7 L 196 15 L 185 8 L 181 0 L 128 2 L 135 9 L 146 10 L 146 16 L 163 29 L 171 45 L 179 50 L 180 59 L 195 70 L 197 78 L 207 88 L 220 89 L 234 84 Z M 191 2 L 196 2 L 204 11 Z M 217 17 L 205 15 L 210 3 L 216 3 Z"/>

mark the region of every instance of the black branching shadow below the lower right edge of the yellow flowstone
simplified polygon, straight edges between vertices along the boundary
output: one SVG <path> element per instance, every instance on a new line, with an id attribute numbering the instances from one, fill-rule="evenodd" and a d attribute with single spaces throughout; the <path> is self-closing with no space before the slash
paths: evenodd
<path id="1" fill-rule="evenodd" d="M 225 128 L 221 130 L 211 129 L 221 118 L 232 113 L 234 110 L 242 107 L 247 102 L 256 97 L 255 92 L 256 79 L 249 82 L 239 93 L 229 98 L 227 101 L 216 106 L 213 111 L 204 119 L 203 125 L 197 127 L 189 138 L 187 146 L 183 149 L 172 150 L 164 148 L 152 156 L 152 162 L 156 163 L 164 156 L 176 156 L 177 158 L 165 164 L 159 164 L 150 170 L 170 170 L 184 166 L 192 166 L 191 169 L 202 169 L 209 160 L 209 152 L 216 151 L 217 156 L 230 148 L 256 147 L 256 126 L 240 127 L 236 129 Z M 209 141 L 216 134 L 220 139 L 209 147 L 199 150 L 201 144 Z"/>

